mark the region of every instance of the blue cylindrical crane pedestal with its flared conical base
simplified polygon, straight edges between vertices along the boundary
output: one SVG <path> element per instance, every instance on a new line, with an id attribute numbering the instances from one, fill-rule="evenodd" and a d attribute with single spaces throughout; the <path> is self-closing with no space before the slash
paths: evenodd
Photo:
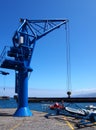
<path id="1" fill-rule="evenodd" d="M 18 108 L 14 116 L 32 116 L 28 107 L 28 71 L 21 70 L 17 75 Z"/>

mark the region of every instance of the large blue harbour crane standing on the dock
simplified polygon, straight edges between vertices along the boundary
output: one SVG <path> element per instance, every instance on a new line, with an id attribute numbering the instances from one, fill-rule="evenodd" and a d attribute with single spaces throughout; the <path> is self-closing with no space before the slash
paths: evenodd
<path id="1" fill-rule="evenodd" d="M 20 19 L 20 26 L 12 38 L 13 46 L 7 51 L 7 56 L 12 59 L 6 58 L 0 65 L 1 68 L 13 69 L 16 72 L 15 90 L 18 94 L 18 108 L 14 116 L 32 116 L 28 107 L 28 73 L 32 72 L 30 62 L 36 41 L 60 26 L 66 25 L 67 22 L 67 19 Z"/>

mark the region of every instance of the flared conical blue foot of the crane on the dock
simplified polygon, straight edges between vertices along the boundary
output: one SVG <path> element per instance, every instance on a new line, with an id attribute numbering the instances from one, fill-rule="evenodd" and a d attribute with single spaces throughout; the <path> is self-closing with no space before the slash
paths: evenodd
<path id="1" fill-rule="evenodd" d="M 32 116 L 33 114 L 29 110 L 28 107 L 21 107 L 16 110 L 14 113 L 15 117 L 25 117 L 25 116 Z"/>

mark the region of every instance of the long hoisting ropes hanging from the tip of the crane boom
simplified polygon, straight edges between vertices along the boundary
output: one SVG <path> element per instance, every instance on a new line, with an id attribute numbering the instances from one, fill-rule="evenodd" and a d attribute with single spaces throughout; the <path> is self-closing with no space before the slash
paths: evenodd
<path id="1" fill-rule="evenodd" d="M 71 62 L 70 62 L 70 32 L 69 32 L 69 24 L 66 23 L 65 25 L 66 30 L 66 62 L 67 62 L 67 79 L 66 79 L 66 86 L 67 91 L 71 91 Z"/>

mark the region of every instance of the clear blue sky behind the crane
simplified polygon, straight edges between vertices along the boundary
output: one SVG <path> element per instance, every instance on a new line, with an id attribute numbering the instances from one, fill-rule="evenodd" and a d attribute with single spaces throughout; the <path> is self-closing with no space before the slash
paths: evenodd
<path id="1" fill-rule="evenodd" d="M 13 46 L 11 39 L 19 18 L 69 19 L 70 89 L 73 95 L 96 91 L 96 0 L 0 0 L 0 52 L 5 45 Z M 62 26 L 37 41 L 29 96 L 66 96 L 65 37 Z M 10 75 L 0 75 L 0 95 L 13 95 L 14 71 L 6 71 Z"/>

